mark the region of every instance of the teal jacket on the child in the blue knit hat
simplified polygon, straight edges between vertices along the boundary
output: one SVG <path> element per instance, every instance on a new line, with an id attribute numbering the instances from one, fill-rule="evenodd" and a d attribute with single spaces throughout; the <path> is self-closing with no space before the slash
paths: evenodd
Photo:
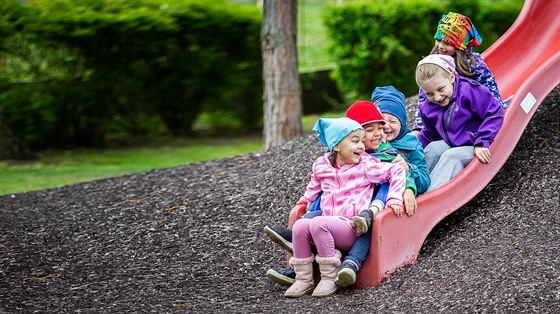
<path id="1" fill-rule="evenodd" d="M 410 167 L 410 177 L 416 183 L 417 194 L 422 194 L 430 186 L 430 171 L 424 159 L 424 149 L 418 138 L 407 133 L 401 139 L 391 141 L 391 146 L 398 149 Z"/>

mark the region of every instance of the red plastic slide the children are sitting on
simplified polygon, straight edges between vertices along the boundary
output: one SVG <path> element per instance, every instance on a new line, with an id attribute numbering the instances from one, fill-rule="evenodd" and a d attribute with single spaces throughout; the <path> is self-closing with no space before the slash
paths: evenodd
<path id="1" fill-rule="evenodd" d="M 418 197 L 418 211 L 411 217 L 396 218 L 390 211 L 377 214 L 357 288 L 375 287 L 388 274 L 416 262 L 434 226 L 469 202 L 500 171 L 540 103 L 560 83 L 558 12 L 560 1 L 525 1 L 509 30 L 483 53 L 502 97 L 511 99 L 504 124 L 490 147 L 492 162 L 482 164 L 475 158 L 450 182 Z M 294 207 L 288 225 L 304 213 L 305 207 Z"/>

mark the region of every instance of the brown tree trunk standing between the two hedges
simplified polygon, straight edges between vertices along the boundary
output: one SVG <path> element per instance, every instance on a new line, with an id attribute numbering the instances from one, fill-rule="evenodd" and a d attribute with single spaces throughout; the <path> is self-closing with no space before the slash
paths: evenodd
<path id="1" fill-rule="evenodd" d="M 296 30 L 297 0 L 264 0 L 261 47 L 265 149 L 302 134 Z"/>

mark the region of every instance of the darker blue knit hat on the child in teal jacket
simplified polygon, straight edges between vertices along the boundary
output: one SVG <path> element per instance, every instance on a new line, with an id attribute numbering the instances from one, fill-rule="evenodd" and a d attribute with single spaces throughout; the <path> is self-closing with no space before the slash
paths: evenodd
<path id="1" fill-rule="evenodd" d="M 401 131 L 395 140 L 400 140 L 406 133 L 410 132 L 410 129 L 406 126 L 406 102 L 403 93 L 393 86 L 378 86 L 371 94 L 371 102 L 381 113 L 392 114 L 399 119 Z"/>

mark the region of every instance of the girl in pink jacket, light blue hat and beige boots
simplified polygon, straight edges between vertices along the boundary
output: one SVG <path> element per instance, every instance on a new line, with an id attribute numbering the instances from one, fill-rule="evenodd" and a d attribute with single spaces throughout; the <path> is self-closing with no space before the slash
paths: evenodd
<path id="1" fill-rule="evenodd" d="M 323 191 L 322 216 L 299 219 L 293 226 L 294 256 L 290 264 L 296 282 L 286 297 L 329 296 L 337 291 L 334 283 L 340 269 L 341 252 L 348 252 L 358 237 L 352 217 L 368 208 L 375 183 L 389 182 L 387 206 L 401 207 L 406 185 L 405 170 L 392 163 L 381 163 L 365 153 L 365 131 L 349 118 L 319 119 L 313 128 L 327 153 L 313 163 L 311 181 L 298 204 L 311 203 Z M 317 247 L 313 256 L 311 244 Z M 313 261 L 319 264 L 321 281 L 315 287 Z"/>

